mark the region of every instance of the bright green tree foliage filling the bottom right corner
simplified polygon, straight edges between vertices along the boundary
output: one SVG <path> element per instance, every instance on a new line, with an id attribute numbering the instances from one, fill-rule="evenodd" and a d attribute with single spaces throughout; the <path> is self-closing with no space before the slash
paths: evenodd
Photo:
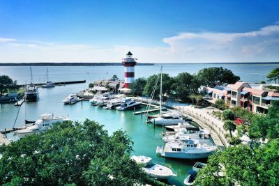
<path id="1" fill-rule="evenodd" d="M 218 151 L 199 171 L 195 185 L 279 185 L 279 139 L 253 151 L 239 145 Z"/>

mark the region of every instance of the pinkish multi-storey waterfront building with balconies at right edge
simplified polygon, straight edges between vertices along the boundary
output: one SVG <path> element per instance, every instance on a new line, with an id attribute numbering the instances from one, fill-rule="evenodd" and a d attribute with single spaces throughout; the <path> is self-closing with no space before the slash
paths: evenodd
<path id="1" fill-rule="evenodd" d="M 264 84 L 250 85 L 245 82 L 236 82 L 227 86 L 206 87 L 206 91 L 206 100 L 211 103 L 222 99 L 230 107 L 243 107 L 243 109 L 262 114 L 268 112 L 268 107 L 274 100 L 279 100 L 279 91 L 270 90 Z"/>

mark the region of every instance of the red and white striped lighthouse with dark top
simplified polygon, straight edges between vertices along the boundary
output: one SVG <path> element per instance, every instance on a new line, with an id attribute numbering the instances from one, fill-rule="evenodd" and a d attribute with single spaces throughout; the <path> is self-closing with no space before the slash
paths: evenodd
<path id="1" fill-rule="evenodd" d="M 122 61 L 122 65 L 125 68 L 125 88 L 129 88 L 129 84 L 135 81 L 135 65 L 137 64 L 136 60 L 137 59 L 133 58 L 133 54 L 128 52 L 126 58 L 124 58 Z"/>

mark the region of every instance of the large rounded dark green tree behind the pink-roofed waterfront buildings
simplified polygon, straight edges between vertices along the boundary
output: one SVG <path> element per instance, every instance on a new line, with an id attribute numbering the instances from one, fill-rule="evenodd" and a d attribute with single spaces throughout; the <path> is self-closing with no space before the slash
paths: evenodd
<path id="1" fill-rule="evenodd" d="M 234 84 L 240 77 L 231 70 L 222 67 L 204 68 L 197 72 L 197 78 L 203 86 L 216 86 L 216 84 Z"/>

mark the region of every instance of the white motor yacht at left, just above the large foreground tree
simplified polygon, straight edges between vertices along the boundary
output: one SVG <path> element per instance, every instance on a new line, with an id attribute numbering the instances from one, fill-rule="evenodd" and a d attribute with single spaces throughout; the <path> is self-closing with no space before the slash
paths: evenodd
<path id="1" fill-rule="evenodd" d="M 42 114 L 40 115 L 40 118 L 38 118 L 35 123 L 29 123 L 27 125 L 24 125 L 22 129 L 20 130 L 15 130 L 15 134 L 23 138 L 27 134 L 34 134 L 36 132 L 43 132 L 50 127 L 56 122 L 63 122 L 63 121 L 68 121 L 68 118 L 65 118 L 63 116 L 56 116 L 54 117 L 53 114 Z"/>

